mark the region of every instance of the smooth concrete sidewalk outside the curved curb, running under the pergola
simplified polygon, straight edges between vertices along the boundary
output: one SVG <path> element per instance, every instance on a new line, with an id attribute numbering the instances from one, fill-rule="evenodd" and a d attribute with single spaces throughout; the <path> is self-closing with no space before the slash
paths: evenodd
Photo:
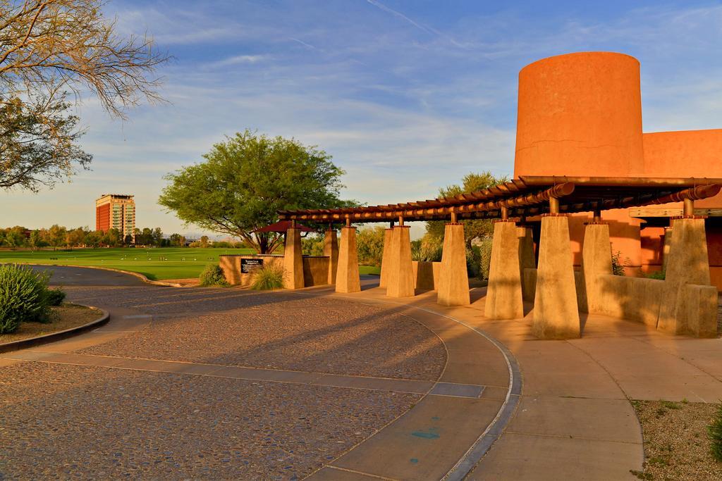
<path id="1" fill-rule="evenodd" d="M 402 304 L 412 308 L 409 312 L 453 317 L 489 333 L 516 356 L 523 377 L 520 405 L 503 436 L 467 479 L 636 479 L 630 470 L 642 469 L 643 440 L 629 400 L 722 399 L 721 339 L 669 336 L 635 322 L 586 316 L 581 339 L 541 341 L 531 335 L 531 313 L 509 321 L 483 317 L 484 291 L 472 292 L 472 302 L 477 302 L 471 306 L 455 308 L 436 304 L 433 292 L 409 299 L 389 299 L 380 288 L 343 294 Z M 336 295 L 323 288 L 303 294 Z M 466 350 L 466 358 L 482 363 L 489 358 L 488 353 L 457 347 L 459 352 Z M 414 407 L 404 417 L 414 412 L 422 409 Z M 473 424 L 473 415 L 459 419 L 459 428 Z M 422 479 L 439 478 L 437 472 L 388 469 L 379 456 L 406 452 L 409 438 L 399 436 L 396 428 L 388 434 L 386 429 L 331 463 L 348 469 L 342 478 L 337 470 L 327 469 L 317 477 L 363 479 L 355 471 L 375 469 L 382 477 L 396 479 L 410 479 L 414 473 Z"/>

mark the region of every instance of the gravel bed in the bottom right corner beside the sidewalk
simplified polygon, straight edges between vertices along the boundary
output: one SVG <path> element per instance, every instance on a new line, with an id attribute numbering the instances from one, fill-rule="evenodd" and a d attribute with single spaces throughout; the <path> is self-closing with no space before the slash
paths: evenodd
<path id="1" fill-rule="evenodd" d="M 722 480 L 722 463 L 710 454 L 706 426 L 717 405 L 632 401 L 644 435 L 642 480 Z"/>

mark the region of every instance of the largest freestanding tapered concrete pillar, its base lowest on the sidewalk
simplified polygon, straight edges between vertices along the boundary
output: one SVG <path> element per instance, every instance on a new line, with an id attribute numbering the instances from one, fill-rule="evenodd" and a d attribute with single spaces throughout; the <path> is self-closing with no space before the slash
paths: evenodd
<path id="1" fill-rule="evenodd" d="M 572 247 L 566 216 L 541 218 L 532 332 L 540 339 L 580 337 Z"/>

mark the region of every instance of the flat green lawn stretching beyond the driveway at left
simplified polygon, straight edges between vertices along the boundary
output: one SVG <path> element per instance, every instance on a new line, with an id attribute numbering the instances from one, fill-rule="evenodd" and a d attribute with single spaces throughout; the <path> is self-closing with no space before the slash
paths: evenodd
<path id="1" fill-rule="evenodd" d="M 0 263 L 90 265 L 130 270 L 152 281 L 197 278 L 206 265 L 217 264 L 222 254 L 252 254 L 253 249 L 203 249 L 161 247 L 153 249 L 0 250 Z M 362 265 L 362 274 L 378 274 L 380 268 Z"/>

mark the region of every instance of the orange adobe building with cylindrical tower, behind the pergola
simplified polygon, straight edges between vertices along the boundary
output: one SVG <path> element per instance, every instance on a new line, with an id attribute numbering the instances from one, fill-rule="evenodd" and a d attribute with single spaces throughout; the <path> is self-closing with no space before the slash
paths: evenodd
<path id="1" fill-rule="evenodd" d="M 621 53 L 544 58 L 519 73 L 514 177 L 722 177 L 722 129 L 643 133 L 640 63 Z M 562 179 L 560 178 L 560 182 Z M 627 275 L 661 270 L 665 231 L 682 203 L 605 211 Z M 722 291 L 722 193 L 697 200 L 708 216 L 710 275 Z M 575 266 L 593 214 L 570 216 Z M 538 219 L 527 219 L 538 240 Z"/>

